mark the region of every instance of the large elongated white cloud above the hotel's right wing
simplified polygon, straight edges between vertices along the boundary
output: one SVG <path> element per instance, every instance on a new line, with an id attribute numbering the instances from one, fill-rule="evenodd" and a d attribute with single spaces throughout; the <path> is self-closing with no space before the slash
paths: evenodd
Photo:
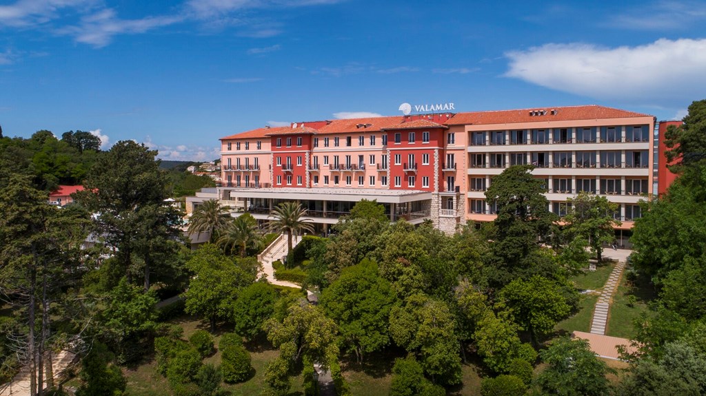
<path id="1" fill-rule="evenodd" d="M 706 95 L 706 39 L 616 48 L 545 44 L 505 56 L 507 77 L 597 99 L 669 106 Z"/>

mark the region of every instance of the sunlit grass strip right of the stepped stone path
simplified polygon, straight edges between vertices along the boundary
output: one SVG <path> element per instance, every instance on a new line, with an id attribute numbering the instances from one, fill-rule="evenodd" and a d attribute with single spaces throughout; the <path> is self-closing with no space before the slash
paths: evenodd
<path id="1" fill-rule="evenodd" d="M 633 298 L 629 297 L 631 295 L 635 296 L 633 307 L 628 306 L 628 302 Z M 638 278 L 634 283 L 630 283 L 626 274 L 623 273 L 618 290 L 616 290 L 611 302 L 606 335 L 620 338 L 635 337 L 633 322 L 640 316 L 640 313 L 647 311 L 647 304 L 655 297 L 657 297 L 657 293 L 650 280 Z"/>

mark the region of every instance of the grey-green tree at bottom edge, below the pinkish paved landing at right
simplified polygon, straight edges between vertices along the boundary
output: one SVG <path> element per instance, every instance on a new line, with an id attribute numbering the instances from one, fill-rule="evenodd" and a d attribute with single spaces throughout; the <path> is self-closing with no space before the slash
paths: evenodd
<path id="1" fill-rule="evenodd" d="M 566 396 L 608 393 L 606 374 L 613 370 L 596 357 L 586 340 L 558 338 L 540 354 L 549 365 L 537 376 L 544 392 Z"/>

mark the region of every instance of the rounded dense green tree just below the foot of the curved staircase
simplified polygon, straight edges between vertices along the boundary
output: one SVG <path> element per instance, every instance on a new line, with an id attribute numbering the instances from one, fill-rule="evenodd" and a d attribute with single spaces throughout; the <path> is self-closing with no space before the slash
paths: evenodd
<path id="1" fill-rule="evenodd" d="M 248 340 L 262 332 L 263 323 L 275 312 L 277 291 L 272 285 L 256 282 L 245 287 L 233 305 L 234 330 Z"/>

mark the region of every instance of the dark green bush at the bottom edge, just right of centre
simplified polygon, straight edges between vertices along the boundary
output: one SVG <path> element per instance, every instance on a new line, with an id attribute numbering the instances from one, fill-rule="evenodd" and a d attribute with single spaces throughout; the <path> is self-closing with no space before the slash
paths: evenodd
<path id="1" fill-rule="evenodd" d="M 446 392 L 441 386 L 434 385 L 424 378 L 421 365 L 414 357 L 395 359 L 393 378 L 390 383 L 390 396 L 442 396 Z"/>

